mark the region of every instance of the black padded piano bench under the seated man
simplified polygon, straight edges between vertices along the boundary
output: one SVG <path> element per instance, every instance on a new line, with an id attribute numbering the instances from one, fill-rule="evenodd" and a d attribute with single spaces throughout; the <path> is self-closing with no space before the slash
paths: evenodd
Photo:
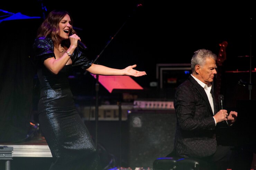
<path id="1" fill-rule="evenodd" d="M 209 167 L 202 160 L 174 156 L 157 158 L 153 170 L 209 170 Z"/>

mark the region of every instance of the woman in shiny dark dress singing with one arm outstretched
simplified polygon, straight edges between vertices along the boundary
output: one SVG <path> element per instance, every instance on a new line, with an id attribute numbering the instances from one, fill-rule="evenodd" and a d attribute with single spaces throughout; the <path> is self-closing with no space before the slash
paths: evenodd
<path id="1" fill-rule="evenodd" d="M 72 66 L 100 75 L 139 77 L 146 72 L 134 70 L 136 65 L 113 69 L 92 63 L 77 47 L 81 39 L 72 24 L 68 12 L 54 10 L 38 29 L 33 44 L 41 88 L 38 118 L 52 152 L 51 170 L 98 170 L 100 163 L 94 143 L 78 114 L 68 84 Z"/>

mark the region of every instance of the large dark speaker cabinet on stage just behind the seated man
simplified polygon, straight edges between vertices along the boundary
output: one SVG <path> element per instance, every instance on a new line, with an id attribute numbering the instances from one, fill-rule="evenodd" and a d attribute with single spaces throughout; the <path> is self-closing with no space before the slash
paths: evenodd
<path id="1" fill-rule="evenodd" d="M 128 164 L 153 167 L 155 159 L 165 157 L 173 150 L 176 114 L 174 110 L 132 111 L 128 114 Z"/>

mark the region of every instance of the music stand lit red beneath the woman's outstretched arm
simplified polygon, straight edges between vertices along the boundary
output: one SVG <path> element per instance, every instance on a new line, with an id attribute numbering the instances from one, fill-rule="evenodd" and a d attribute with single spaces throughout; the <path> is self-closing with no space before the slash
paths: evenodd
<path id="1" fill-rule="evenodd" d="M 100 76 L 91 74 L 95 79 L 104 86 L 110 93 L 125 93 L 125 92 L 134 92 L 136 90 L 143 90 L 143 88 L 134 81 L 130 76 Z M 98 104 L 96 104 L 98 106 Z M 95 124 L 98 124 L 98 109 L 95 108 Z M 97 117 L 97 118 L 96 118 Z M 119 167 L 121 167 L 121 122 L 122 122 L 122 108 L 121 101 L 118 102 L 118 117 L 119 117 Z M 97 132 L 98 128 L 96 126 L 96 137 L 98 138 Z M 97 139 L 96 139 L 97 140 Z M 96 142 L 97 143 L 97 142 Z"/>

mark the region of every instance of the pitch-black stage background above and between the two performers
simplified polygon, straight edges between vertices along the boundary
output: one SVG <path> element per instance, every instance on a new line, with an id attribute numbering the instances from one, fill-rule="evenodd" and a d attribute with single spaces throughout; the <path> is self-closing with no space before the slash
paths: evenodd
<path id="1" fill-rule="evenodd" d="M 230 8 L 230 4 L 194 1 L 174 5 L 143 0 L 84 1 L 83 4 L 28 0 L 15 6 L 6 2 L 0 8 L 42 17 L 41 2 L 47 8 L 45 14 L 53 9 L 70 12 L 92 58 L 100 54 L 125 23 L 98 62 L 115 68 L 137 64 L 138 70 L 147 72 L 147 76 L 134 78 L 143 87 L 156 81 L 157 63 L 190 63 L 193 52 L 201 48 L 218 54 L 218 44 L 222 41 L 228 42 L 226 68 L 229 70 L 238 65 L 248 66 L 246 61 L 235 61 L 238 56 L 250 55 L 251 35 L 252 54 L 255 53 L 255 8 L 245 1 L 232 3 Z"/>

